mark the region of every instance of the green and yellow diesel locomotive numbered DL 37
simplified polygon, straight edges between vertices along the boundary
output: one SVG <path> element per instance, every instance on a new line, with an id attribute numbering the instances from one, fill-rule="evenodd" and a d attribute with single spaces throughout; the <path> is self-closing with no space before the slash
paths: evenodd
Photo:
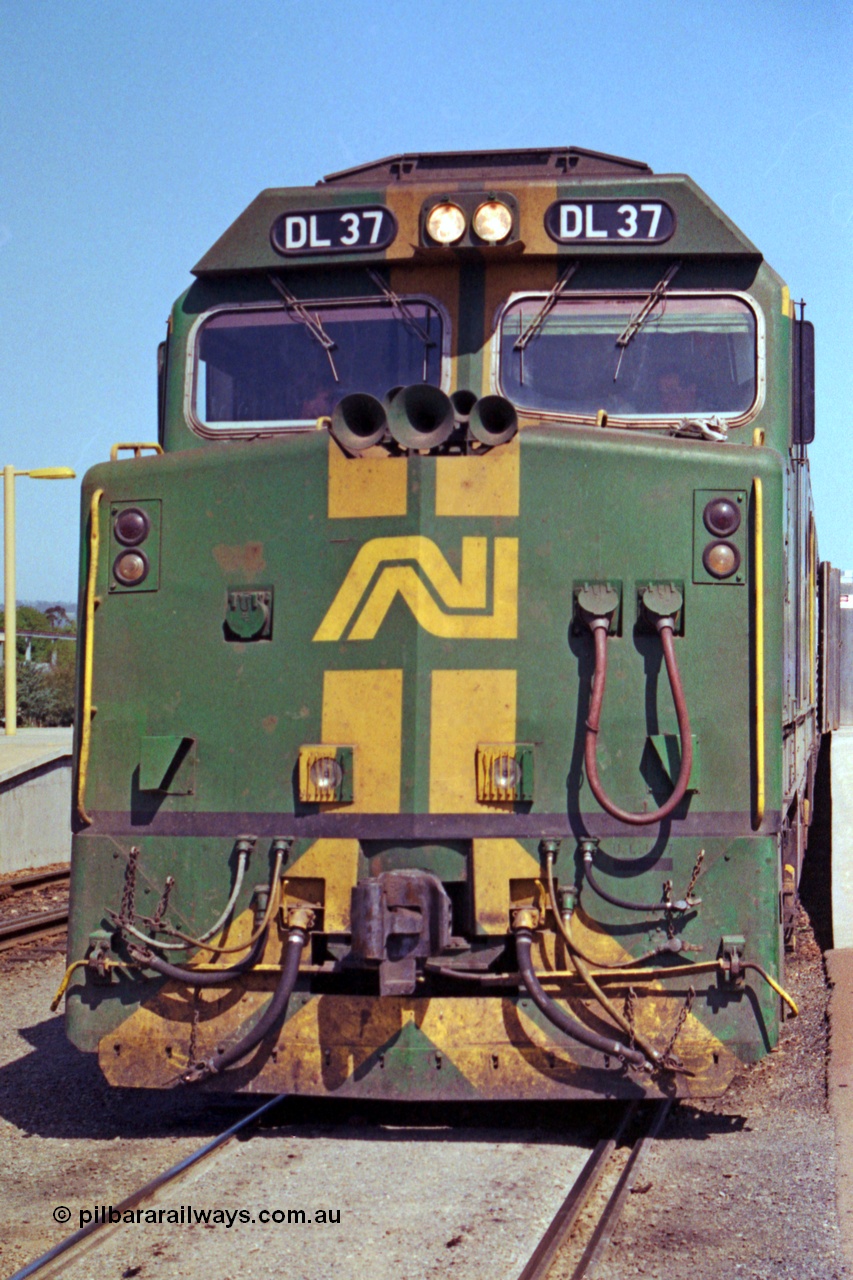
<path id="1" fill-rule="evenodd" d="M 813 332 L 576 147 L 263 192 L 83 483 L 67 1029 L 117 1085 L 713 1096 L 827 727 Z M 795 1010 L 794 1010 L 795 1011 Z"/>

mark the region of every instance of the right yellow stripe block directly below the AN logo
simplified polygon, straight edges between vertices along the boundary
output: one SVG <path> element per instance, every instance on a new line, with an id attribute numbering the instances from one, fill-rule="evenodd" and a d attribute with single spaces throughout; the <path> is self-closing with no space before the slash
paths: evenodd
<path id="1" fill-rule="evenodd" d="M 512 742 L 515 732 L 515 671 L 433 671 L 430 813 L 511 808 L 506 801 L 478 804 L 475 764 L 480 742 Z"/>

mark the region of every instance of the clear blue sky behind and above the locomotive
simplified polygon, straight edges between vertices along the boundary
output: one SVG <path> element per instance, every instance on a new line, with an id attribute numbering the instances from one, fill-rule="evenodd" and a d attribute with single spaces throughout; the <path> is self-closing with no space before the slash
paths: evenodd
<path id="1" fill-rule="evenodd" d="M 808 302 L 820 550 L 853 567 L 844 0 L 0 0 L 0 462 L 152 438 L 169 306 L 264 187 L 571 143 L 689 173 Z M 17 493 L 19 599 L 73 599 L 78 485 Z"/>

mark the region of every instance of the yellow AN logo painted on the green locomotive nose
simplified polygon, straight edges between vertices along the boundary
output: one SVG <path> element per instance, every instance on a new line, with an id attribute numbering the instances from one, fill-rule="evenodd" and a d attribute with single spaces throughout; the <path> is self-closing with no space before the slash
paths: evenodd
<path id="1" fill-rule="evenodd" d="M 397 594 L 430 635 L 514 640 L 519 631 L 519 540 L 494 539 L 492 612 L 487 613 L 488 538 L 462 539 L 459 577 L 429 538 L 374 538 L 352 562 L 314 639 L 341 640 L 352 623 L 350 640 L 373 640 Z"/>

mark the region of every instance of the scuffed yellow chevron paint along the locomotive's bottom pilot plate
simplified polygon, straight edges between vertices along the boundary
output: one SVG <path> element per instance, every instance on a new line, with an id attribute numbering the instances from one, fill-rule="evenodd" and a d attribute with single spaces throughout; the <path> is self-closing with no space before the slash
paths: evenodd
<path id="1" fill-rule="evenodd" d="M 264 972 L 256 979 L 241 979 L 240 1000 L 223 1000 L 229 989 L 225 987 L 206 988 L 193 998 L 188 988 L 167 983 L 104 1037 L 99 1046 L 101 1070 L 111 1084 L 137 1084 L 140 1076 L 149 1087 L 174 1084 L 187 1066 L 193 1018 L 196 1056 L 206 1057 L 257 1016 L 269 1001 L 275 977 Z M 638 1005 L 638 1027 L 666 1043 L 683 1006 L 683 993 L 653 989 Z M 533 1010 L 510 996 L 378 1000 L 352 995 L 315 996 L 297 1009 L 279 1032 L 275 1053 L 252 1071 L 251 1088 L 346 1094 L 357 1093 L 368 1076 L 373 1076 L 375 1087 L 377 1076 L 382 1079 L 377 1056 L 393 1052 L 394 1042 L 409 1027 L 419 1033 L 426 1050 L 419 1065 L 420 1078 L 428 1074 L 437 1092 L 447 1066 L 455 1068 L 470 1097 L 560 1098 L 596 1088 L 589 1068 L 583 1065 L 587 1051 L 580 1050 L 578 1061 L 575 1046 L 556 1043 L 539 1027 Z M 676 1051 L 692 1074 L 665 1076 L 660 1087 L 679 1096 L 721 1093 L 739 1065 L 693 1014 L 679 1034 Z M 442 1069 L 443 1075 L 438 1074 Z M 421 1079 L 410 1076 L 412 1097 L 418 1097 L 419 1085 L 425 1092 L 430 1088 L 429 1080 L 421 1084 Z M 651 1096 L 658 1092 L 657 1082 L 648 1082 L 646 1088 Z"/>

